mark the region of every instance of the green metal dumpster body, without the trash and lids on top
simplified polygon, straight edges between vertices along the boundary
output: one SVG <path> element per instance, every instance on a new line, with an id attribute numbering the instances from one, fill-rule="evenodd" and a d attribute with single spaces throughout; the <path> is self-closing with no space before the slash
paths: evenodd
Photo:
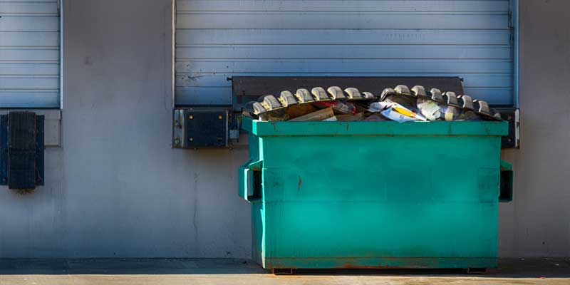
<path id="1" fill-rule="evenodd" d="M 497 265 L 507 123 L 244 118 L 242 128 L 239 195 L 265 269 Z"/>

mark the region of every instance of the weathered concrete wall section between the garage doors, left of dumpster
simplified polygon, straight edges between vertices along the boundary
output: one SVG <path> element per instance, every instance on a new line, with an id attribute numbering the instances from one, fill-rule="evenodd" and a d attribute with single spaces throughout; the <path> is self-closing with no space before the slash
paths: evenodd
<path id="1" fill-rule="evenodd" d="M 170 148 L 170 0 L 64 1 L 61 148 L 0 191 L 0 257 L 249 257 L 247 150 Z"/>

